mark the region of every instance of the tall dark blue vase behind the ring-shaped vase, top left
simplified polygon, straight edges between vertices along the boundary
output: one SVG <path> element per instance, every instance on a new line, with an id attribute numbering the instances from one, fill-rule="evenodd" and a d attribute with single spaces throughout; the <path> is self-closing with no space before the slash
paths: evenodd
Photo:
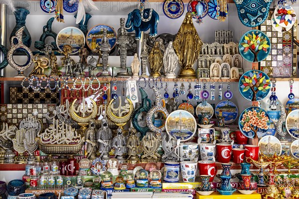
<path id="1" fill-rule="evenodd" d="M 27 10 L 23 7 L 15 8 L 15 10 L 13 11 L 13 14 L 15 16 L 16 24 L 10 34 L 10 38 L 11 38 L 12 36 L 15 36 L 16 31 L 18 31 L 21 27 L 25 27 L 23 30 L 23 35 L 22 35 L 22 42 L 28 48 L 31 46 L 31 36 L 30 36 L 30 33 L 29 33 L 25 23 L 26 23 L 26 17 L 29 13 L 30 13 L 29 10 Z M 10 40 L 10 38 L 9 38 L 9 40 Z M 16 44 L 16 43 L 14 43 L 14 44 Z"/>

